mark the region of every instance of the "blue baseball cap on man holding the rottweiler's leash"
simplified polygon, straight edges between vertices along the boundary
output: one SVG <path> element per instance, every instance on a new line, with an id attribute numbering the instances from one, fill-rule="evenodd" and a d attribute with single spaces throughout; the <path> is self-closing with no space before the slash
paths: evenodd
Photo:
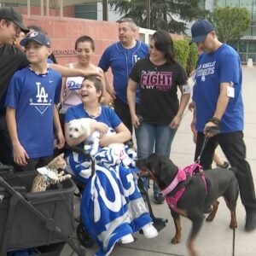
<path id="1" fill-rule="evenodd" d="M 200 43 L 205 40 L 207 34 L 212 32 L 214 27 L 208 20 L 196 20 L 191 26 L 192 39 L 189 44 Z"/>

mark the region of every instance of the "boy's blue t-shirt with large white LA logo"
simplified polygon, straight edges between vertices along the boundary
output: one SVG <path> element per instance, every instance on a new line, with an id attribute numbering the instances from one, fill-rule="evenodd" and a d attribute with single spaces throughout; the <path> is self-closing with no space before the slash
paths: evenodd
<path id="1" fill-rule="evenodd" d="M 25 67 L 10 80 L 5 105 L 15 108 L 18 137 L 30 158 L 53 154 L 53 110 L 60 96 L 61 74 L 51 68 L 37 74 Z"/>

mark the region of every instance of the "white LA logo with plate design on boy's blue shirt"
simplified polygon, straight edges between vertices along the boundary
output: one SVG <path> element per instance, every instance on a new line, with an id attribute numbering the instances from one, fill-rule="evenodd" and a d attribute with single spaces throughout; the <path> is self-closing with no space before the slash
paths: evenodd
<path id="1" fill-rule="evenodd" d="M 51 105 L 52 100 L 49 99 L 48 93 L 46 93 L 44 86 L 41 83 L 37 84 L 37 95 L 35 96 L 37 99 L 37 102 L 33 102 L 33 99 L 29 99 L 29 105 L 35 106 L 35 108 L 38 110 L 39 113 L 44 114 L 44 112 L 49 108 Z"/>

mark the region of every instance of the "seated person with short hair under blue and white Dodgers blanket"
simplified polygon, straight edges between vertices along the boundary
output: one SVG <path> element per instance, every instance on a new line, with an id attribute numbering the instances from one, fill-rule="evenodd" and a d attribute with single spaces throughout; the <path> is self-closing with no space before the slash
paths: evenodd
<path id="1" fill-rule="evenodd" d="M 84 226 L 100 247 L 96 255 L 108 255 L 117 241 L 134 241 L 132 234 L 138 230 L 143 230 L 147 238 L 158 235 L 132 173 L 136 169 L 132 159 L 134 154 L 125 147 L 113 146 L 131 139 L 131 133 L 112 108 L 101 106 L 102 90 L 100 79 L 86 77 L 79 90 L 82 103 L 68 108 L 65 117 L 65 136 L 69 146 L 84 148 L 86 138 L 93 131 L 101 134 L 99 150 L 93 156 L 96 166 L 92 175 L 89 158 L 75 152 L 67 154 L 68 164 L 86 185 L 80 212 Z M 96 122 L 70 129 L 70 121 L 84 118 Z M 109 127 L 113 128 L 114 134 L 107 134 Z M 73 136 L 79 129 L 80 135 Z M 131 157 L 130 161 L 127 161 L 127 155 Z"/>

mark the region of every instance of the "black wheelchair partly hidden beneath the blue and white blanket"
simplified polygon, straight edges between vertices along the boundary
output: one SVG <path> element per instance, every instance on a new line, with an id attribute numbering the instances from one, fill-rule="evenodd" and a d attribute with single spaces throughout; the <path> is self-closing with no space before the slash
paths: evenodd
<path id="1" fill-rule="evenodd" d="M 95 160 L 94 160 L 93 157 L 91 157 L 90 154 L 86 153 L 86 151 L 83 148 L 79 148 L 79 147 L 69 147 L 69 146 L 66 145 L 66 150 L 67 151 L 73 151 L 73 152 L 76 152 L 78 154 L 84 154 L 84 156 L 89 157 L 90 161 L 91 161 L 91 171 L 92 171 L 91 175 L 93 176 L 93 174 L 95 173 Z M 84 190 L 84 183 L 81 183 L 79 181 L 79 179 L 74 175 L 74 173 L 71 170 L 69 170 L 68 168 L 67 168 L 66 172 L 72 175 L 73 180 L 77 184 L 77 187 L 79 189 L 79 194 L 82 194 L 83 190 Z M 138 188 L 140 189 L 141 194 L 143 195 L 143 197 L 145 198 L 145 200 L 147 202 L 148 211 L 150 213 L 150 217 L 153 220 L 155 229 L 158 230 L 158 231 L 163 230 L 166 227 L 166 223 L 168 222 L 168 219 L 166 219 L 166 218 L 156 218 L 154 216 L 154 212 L 152 210 L 152 207 L 151 207 L 151 204 L 150 204 L 150 201 L 149 201 L 149 197 L 148 197 L 148 191 L 144 188 L 143 180 L 141 178 L 138 178 L 137 185 L 138 185 Z M 77 221 L 79 222 L 79 224 L 77 226 L 76 231 L 77 231 L 77 237 L 78 237 L 80 243 L 84 247 L 92 247 L 94 245 L 94 241 L 90 237 L 89 232 L 84 227 L 84 224 L 82 223 L 80 218 L 78 218 Z M 143 234 L 143 230 L 140 230 L 140 233 Z"/>

